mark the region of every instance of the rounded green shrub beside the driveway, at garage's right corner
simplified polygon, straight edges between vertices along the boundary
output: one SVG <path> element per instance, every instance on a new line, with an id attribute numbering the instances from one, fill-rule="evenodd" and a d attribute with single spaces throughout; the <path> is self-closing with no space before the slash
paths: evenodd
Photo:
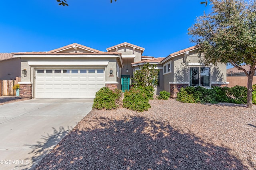
<path id="1" fill-rule="evenodd" d="M 108 87 L 102 87 L 98 92 L 96 92 L 96 97 L 93 100 L 93 109 L 117 109 L 119 106 L 116 104 L 120 100 L 122 91 L 115 89 L 113 92 Z"/>

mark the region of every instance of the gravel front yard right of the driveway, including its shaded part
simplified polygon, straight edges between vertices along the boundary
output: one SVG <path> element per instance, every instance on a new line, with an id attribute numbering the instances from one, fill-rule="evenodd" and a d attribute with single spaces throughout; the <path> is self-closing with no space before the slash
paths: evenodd
<path id="1" fill-rule="evenodd" d="M 92 110 L 34 169 L 256 169 L 256 106 L 150 105 Z"/>

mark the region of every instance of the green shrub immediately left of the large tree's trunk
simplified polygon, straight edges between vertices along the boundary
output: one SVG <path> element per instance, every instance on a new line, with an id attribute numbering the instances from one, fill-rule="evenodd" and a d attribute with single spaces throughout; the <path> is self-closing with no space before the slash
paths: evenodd
<path id="1" fill-rule="evenodd" d="M 246 104 L 247 103 L 247 88 L 244 86 L 234 86 L 229 88 L 228 97 L 232 103 Z"/>

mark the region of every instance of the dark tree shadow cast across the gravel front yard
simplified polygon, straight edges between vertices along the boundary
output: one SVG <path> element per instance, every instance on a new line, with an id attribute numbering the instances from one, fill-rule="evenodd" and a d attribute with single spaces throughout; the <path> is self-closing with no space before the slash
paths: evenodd
<path id="1" fill-rule="evenodd" d="M 83 119 L 34 169 L 248 169 L 229 149 L 137 116 Z"/>

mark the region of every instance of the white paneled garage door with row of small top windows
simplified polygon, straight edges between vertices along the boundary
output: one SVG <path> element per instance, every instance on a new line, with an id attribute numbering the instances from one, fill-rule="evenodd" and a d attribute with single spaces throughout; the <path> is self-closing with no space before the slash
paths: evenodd
<path id="1" fill-rule="evenodd" d="M 105 86 L 104 69 L 37 69 L 36 98 L 95 98 Z"/>

